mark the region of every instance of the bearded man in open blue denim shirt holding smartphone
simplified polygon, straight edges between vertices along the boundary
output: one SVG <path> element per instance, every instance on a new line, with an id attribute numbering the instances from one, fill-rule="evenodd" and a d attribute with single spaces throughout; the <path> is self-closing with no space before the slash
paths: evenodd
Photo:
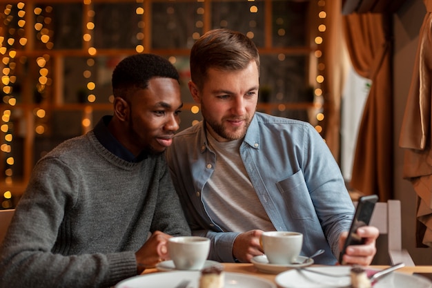
<path id="1" fill-rule="evenodd" d="M 298 231 L 303 255 L 334 265 L 354 207 L 333 155 L 306 122 L 255 111 L 259 54 L 251 39 L 211 30 L 190 52 L 189 90 L 204 121 L 167 150 L 173 182 L 194 235 L 213 242 L 210 259 L 249 262 L 263 254 L 262 231 Z M 369 265 L 375 227 L 357 231 L 344 261 Z"/>

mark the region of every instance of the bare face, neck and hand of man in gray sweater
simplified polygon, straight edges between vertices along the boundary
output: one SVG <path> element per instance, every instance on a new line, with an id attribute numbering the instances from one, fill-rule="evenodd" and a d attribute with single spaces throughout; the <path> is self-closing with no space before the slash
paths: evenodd
<path id="1" fill-rule="evenodd" d="M 133 155 L 141 152 L 163 153 L 179 129 L 183 106 L 177 80 L 163 77 L 150 79 L 148 88 L 131 90 L 131 95 L 115 97 L 114 115 L 108 129 Z M 169 236 L 155 231 L 135 252 L 137 273 L 169 259 L 166 243 Z"/>

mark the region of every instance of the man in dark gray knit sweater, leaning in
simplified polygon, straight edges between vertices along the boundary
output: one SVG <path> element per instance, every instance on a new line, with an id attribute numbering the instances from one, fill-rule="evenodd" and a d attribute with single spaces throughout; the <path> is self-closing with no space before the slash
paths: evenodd
<path id="1" fill-rule="evenodd" d="M 110 287 L 190 235 L 164 151 L 179 128 L 179 75 L 157 55 L 112 73 L 114 113 L 36 164 L 0 247 L 0 287 Z"/>

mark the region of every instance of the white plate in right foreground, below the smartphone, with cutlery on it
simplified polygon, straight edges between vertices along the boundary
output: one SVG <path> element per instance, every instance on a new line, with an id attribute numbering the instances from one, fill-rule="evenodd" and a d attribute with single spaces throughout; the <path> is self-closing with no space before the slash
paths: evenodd
<path id="1" fill-rule="evenodd" d="M 317 273 L 304 270 L 292 269 L 279 273 L 275 281 L 283 288 L 337 288 L 351 285 L 350 266 L 331 267 L 308 267 L 307 270 L 317 270 L 330 273 L 335 276 L 323 276 Z M 373 272 L 376 270 L 368 270 Z M 344 276 L 346 275 L 346 276 Z M 341 277 L 342 276 L 342 277 Z M 432 282 L 421 276 L 413 276 L 400 272 L 393 272 L 390 275 L 378 280 L 373 288 L 432 288 Z"/>

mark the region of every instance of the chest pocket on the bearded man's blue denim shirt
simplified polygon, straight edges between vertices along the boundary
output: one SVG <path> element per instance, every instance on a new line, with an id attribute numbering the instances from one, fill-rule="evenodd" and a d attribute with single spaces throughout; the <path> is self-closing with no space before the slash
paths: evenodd
<path id="1" fill-rule="evenodd" d="M 277 182 L 276 186 L 284 199 L 288 213 L 293 219 L 314 218 L 315 208 L 302 170 Z"/>

